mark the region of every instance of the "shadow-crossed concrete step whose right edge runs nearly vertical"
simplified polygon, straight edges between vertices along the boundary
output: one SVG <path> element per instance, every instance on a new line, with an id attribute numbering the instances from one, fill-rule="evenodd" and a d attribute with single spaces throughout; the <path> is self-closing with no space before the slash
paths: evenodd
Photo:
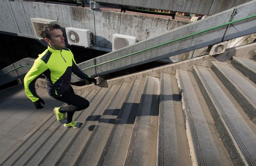
<path id="1" fill-rule="evenodd" d="M 134 122 L 125 166 L 155 166 L 159 107 L 159 79 L 147 76 Z"/>

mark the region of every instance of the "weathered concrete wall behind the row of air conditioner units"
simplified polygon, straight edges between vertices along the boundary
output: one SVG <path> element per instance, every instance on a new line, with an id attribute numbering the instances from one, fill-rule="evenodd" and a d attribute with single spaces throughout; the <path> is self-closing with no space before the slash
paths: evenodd
<path id="1" fill-rule="evenodd" d="M 90 29 L 94 46 L 112 49 L 114 33 L 137 36 L 138 41 L 156 37 L 189 22 L 112 11 L 22 0 L 0 0 L 0 31 L 35 37 L 30 18 L 58 20 L 65 27 Z"/>

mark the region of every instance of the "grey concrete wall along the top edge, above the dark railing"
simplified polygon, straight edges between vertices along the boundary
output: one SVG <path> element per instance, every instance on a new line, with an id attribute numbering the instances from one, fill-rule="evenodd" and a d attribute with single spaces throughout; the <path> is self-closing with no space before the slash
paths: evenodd
<path id="1" fill-rule="evenodd" d="M 250 0 L 94 0 L 134 7 L 214 15 Z"/>

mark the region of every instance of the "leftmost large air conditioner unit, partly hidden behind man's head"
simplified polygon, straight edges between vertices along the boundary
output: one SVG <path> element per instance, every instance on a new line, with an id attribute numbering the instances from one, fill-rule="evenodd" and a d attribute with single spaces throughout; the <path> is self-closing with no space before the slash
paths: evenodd
<path id="1" fill-rule="evenodd" d="M 46 19 L 46 18 L 30 18 L 30 20 L 37 38 L 42 38 L 39 33 L 39 28 L 42 27 L 44 24 L 49 24 L 49 23 L 59 24 L 57 20 Z"/>

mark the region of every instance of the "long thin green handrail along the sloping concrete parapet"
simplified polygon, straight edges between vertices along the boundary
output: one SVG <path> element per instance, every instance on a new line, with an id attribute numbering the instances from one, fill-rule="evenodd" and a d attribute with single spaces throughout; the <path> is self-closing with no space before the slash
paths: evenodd
<path id="1" fill-rule="evenodd" d="M 164 43 L 159 44 L 159 45 L 156 45 L 156 46 L 151 46 L 151 47 L 148 47 L 148 48 L 139 50 L 139 51 L 137 51 L 137 52 L 134 52 L 134 53 L 131 53 L 131 54 L 128 54 L 128 55 L 120 56 L 120 57 L 118 57 L 118 58 L 115 58 L 115 59 L 112 59 L 112 60 L 109 60 L 109 61 L 100 63 L 100 64 L 98 64 L 98 65 L 93 65 L 93 66 L 87 67 L 87 68 L 85 68 L 85 69 L 82 69 L 82 71 L 87 70 L 87 69 L 90 69 L 90 68 L 93 68 L 93 67 L 97 67 L 97 66 L 99 66 L 99 65 L 104 65 L 104 64 L 107 64 L 107 63 L 109 63 L 109 62 L 113 62 L 113 61 L 116 61 L 116 60 L 119 60 L 119 59 L 122 59 L 122 58 L 125 58 L 125 57 L 128 57 L 128 56 L 131 56 L 131 55 L 135 55 L 135 54 L 138 54 L 138 53 L 142 53 L 142 52 L 145 52 L 145 51 L 148 51 L 148 50 L 157 48 L 157 47 L 159 47 L 159 46 L 164 46 L 164 45 L 167 45 L 167 44 L 170 44 L 170 43 L 173 43 L 173 42 L 176 42 L 176 41 L 179 41 L 179 40 L 188 38 L 188 37 L 196 36 L 196 35 L 199 35 L 199 34 L 202 34 L 202 33 L 205 33 L 205 32 L 208 32 L 208 31 L 211 31 L 211 30 L 214 30 L 214 29 L 217 29 L 217 28 L 225 27 L 225 26 L 227 26 L 227 25 L 234 24 L 234 23 L 236 23 L 236 22 L 240 22 L 240 21 L 244 21 L 244 20 L 246 20 L 246 19 L 254 18 L 254 17 L 256 17 L 256 14 L 255 14 L 255 15 L 251 15 L 251 16 L 247 16 L 247 17 L 245 17 L 245 18 L 240 18 L 240 19 L 237 19 L 237 20 L 234 20 L 234 21 L 230 21 L 230 22 L 227 22 L 227 23 L 218 25 L 218 26 L 216 26 L 216 27 L 208 28 L 208 29 L 206 29 L 206 30 L 201 30 L 201 31 L 199 31 L 199 32 L 196 32 L 196 33 L 192 33 L 192 34 L 190 34 L 190 35 L 187 35 L 187 36 L 185 36 L 185 37 L 179 37 L 179 38 L 177 38 L 177 39 L 170 40 L 170 41 L 164 42 Z"/>

